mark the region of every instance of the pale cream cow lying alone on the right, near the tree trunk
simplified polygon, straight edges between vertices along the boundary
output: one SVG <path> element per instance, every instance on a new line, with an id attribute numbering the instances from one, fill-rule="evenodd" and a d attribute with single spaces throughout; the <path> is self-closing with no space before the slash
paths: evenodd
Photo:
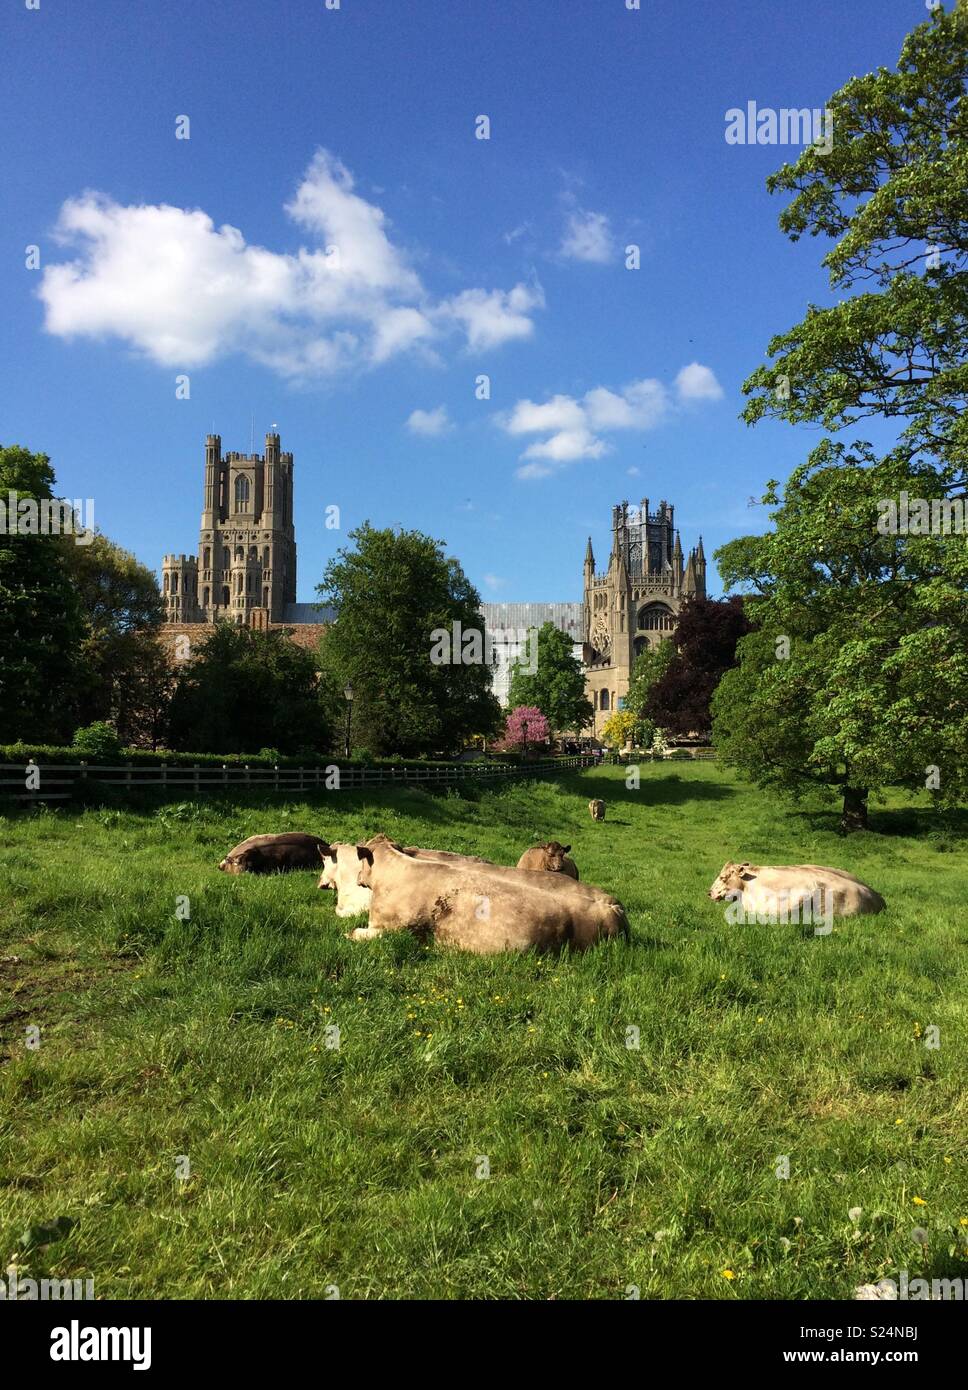
<path id="1" fill-rule="evenodd" d="M 861 912 L 883 912 L 879 892 L 843 869 L 828 865 L 723 865 L 709 888 L 713 902 L 723 898 L 743 902 L 744 913 L 776 913 L 782 920 L 807 908 L 828 917 L 850 917 Z"/>

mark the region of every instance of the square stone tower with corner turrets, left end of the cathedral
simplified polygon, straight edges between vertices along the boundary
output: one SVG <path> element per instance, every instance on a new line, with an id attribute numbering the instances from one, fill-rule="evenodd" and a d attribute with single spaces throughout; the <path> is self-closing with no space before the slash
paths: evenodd
<path id="1" fill-rule="evenodd" d="M 264 455 L 225 457 L 221 436 L 207 436 L 199 555 L 166 555 L 161 584 L 170 623 L 282 621 L 296 602 L 296 537 L 292 455 L 277 434 Z"/>

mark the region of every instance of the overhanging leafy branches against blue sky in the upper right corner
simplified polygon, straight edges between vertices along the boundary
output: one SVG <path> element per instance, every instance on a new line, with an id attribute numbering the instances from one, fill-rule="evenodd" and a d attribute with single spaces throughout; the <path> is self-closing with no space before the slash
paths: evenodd
<path id="1" fill-rule="evenodd" d="M 964 491 L 968 464 L 968 0 L 904 42 L 897 71 L 851 78 L 828 103 L 833 147 L 768 181 L 793 193 L 780 228 L 823 236 L 837 303 L 769 343 L 745 418 L 840 430 L 896 420 L 910 457 Z"/>

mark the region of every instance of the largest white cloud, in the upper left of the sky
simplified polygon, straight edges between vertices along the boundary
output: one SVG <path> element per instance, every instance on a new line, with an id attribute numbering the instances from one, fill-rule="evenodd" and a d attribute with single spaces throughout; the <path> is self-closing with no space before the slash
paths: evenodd
<path id="1" fill-rule="evenodd" d="M 61 338 L 120 338 L 164 367 L 239 352 L 288 378 L 328 377 L 463 335 L 474 352 L 529 338 L 540 285 L 426 291 L 380 207 L 346 167 L 317 152 L 287 204 L 313 238 L 295 253 L 252 246 L 200 208 L 68 199 L 57 236 L 74 259 L 40 285 L 46 328 Z"/>

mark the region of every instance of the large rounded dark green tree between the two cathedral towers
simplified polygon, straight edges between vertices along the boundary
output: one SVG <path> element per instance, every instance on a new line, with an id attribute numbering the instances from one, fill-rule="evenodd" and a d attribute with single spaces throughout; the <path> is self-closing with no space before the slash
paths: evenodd
<path id="1" fill-rule="evenodd" d="M 420 531 L 364 523 L 350 541 L 318 594 L 338 613 L 321 662 L 335 689 L 352 682 L 355 741 L 414 756 L 495 731 L 480 595 L 458 560 Z"/>

